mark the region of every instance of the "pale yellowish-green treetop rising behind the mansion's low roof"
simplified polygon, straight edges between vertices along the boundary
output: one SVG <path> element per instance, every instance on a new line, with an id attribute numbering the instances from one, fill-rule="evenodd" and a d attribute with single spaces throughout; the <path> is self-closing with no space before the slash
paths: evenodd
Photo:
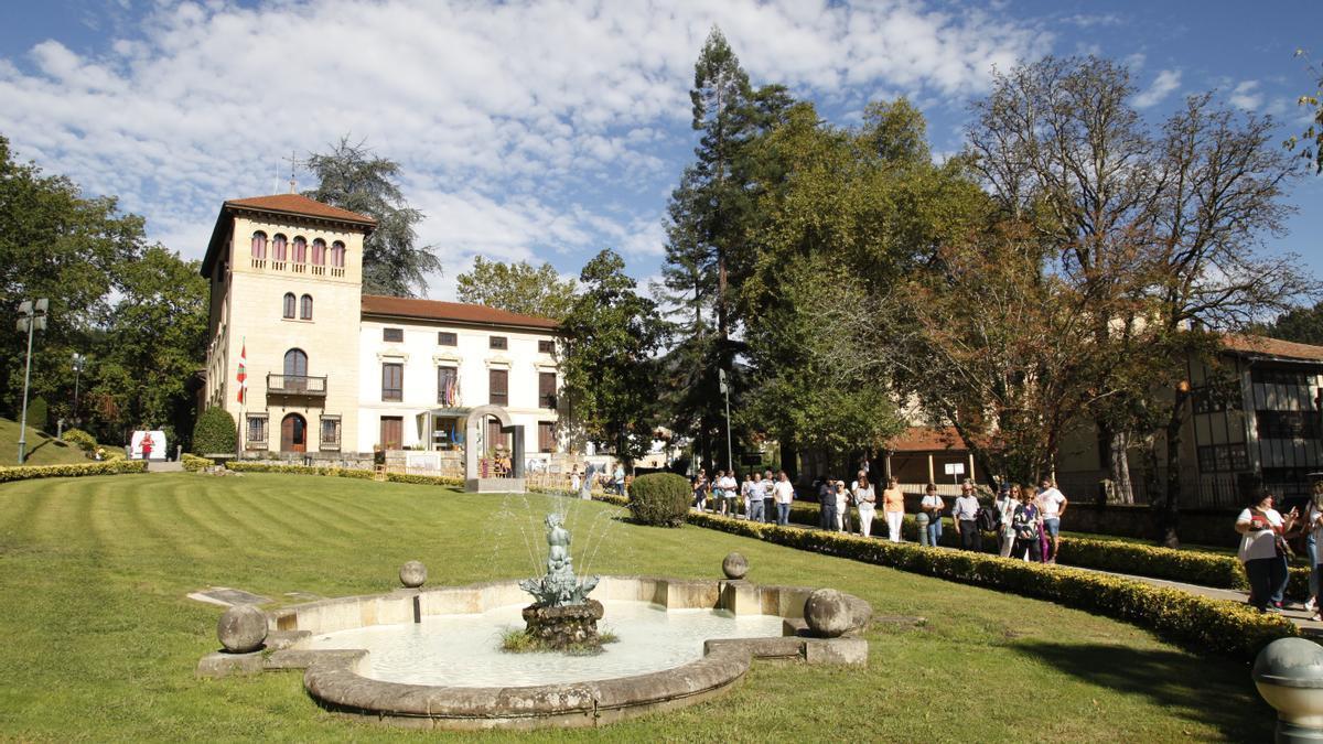
<path id="1" fill-rule="evenodd" d="M 474 269 L 456 277 L 459 299 L 524 315 L 564 319 L 574 304 L 574 281 L 561 279 L 550 263 L 505 263 L 474 259 Z"/>

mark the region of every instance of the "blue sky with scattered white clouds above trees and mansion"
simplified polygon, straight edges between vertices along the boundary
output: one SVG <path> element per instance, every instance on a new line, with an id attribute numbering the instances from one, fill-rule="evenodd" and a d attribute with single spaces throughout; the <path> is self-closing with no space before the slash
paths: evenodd
<path id="1" fill-rule="evenodd" d="M 577 274 L 610 248 L 660 271 L 667 197 L 697 143 L 693 64 L 718 25 L 754 85 L 836 124 L 906 95 L 958 152 L 992 70 L 1044 54 L 1123 61 L 1154 126 L 1183 97 L 1307 126 L 1323 0 L 134 0 L 0 8 L 0 134 L 21 160 L 116 195 L 148 237 L 201 258 L 221 203 L 288 191 L 290 159 L 341 136 L 402 167 L 452 299 L 475 256 Z M 295 171 L 298 188 L 310 175 Z M 1266 249 L 1323 278 L 1323 177 Z"/>

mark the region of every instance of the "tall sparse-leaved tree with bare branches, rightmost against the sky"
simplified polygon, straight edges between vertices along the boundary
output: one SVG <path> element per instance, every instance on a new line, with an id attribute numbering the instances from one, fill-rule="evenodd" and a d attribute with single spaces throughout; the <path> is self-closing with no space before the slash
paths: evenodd
<path id="1" fill-rule="evenodd" d="M 1271 122 L 1220 109 L 1205 94 L 1154 130 L 1131 106 L 1132 94 L 1121 65 L 1049 57 L 996 75 L 967 131 L 971 162 L 1005 213 L 1054 246 L 1057 271 L 1073 287 L 1115 308 L 1090 315 L 1094 343 L 1126 344 L 1122 355 L 1152 365 L 1125 376 L 1109 367 L 1097 380 L 1119 402 L 1099 406 L 1097 424 L 1109 475 L 1123 485 L 1135 428 L 1126 412 L 1154 395 L 1146 380 L 1185 363 L 1152 355 L 1154 344 L 1176 343 L 1196 322 L 1244 326 L 1310 289 L 1291 257 L 1259 250 L 1287 212 L 1281 195 L 1290 162 L 1267 146 Z M 1115 334 L 1118 323 L 1135 332 Z M 1188 384 L 1167 396 L 1163 502 L 1175 544 Z"/>

